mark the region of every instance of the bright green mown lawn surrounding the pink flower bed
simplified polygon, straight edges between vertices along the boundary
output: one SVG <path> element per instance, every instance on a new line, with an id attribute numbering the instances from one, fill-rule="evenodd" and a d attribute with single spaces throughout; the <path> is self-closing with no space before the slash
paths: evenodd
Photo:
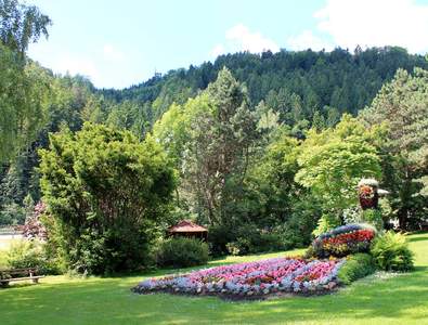
<path id="1" fill-rule="evenodd" d="M 412 235 L 410 240 L 416 253 L 415 272 L 377 273 L 333 295 L 228 302 L 216 297 L 132 294 L 130 288 L 146 274 L 88 280 L 52 276 L 39 285 L 0 289 L 0 324 L 428 324 L 428 233 Z M 228 258 L 210 264 L 281 255 Z"/>

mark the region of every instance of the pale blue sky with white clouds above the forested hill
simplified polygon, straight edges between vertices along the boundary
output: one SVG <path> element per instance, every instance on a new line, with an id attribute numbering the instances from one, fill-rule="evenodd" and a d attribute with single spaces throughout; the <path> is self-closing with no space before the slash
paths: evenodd
<path id="1" fill-rule="evenodd" d="M 265 50 L 428 52 L 428 0 L 27 0 L 53 21 L 28 55 L 121 89 L 155 72 Z"/>

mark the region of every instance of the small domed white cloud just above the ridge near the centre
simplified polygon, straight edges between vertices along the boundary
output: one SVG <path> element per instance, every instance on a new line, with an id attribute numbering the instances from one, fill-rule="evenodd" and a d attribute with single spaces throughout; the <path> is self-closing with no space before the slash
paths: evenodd
<path id="1" fill-rule="evenodd" d="M 216 57 L 226 52 L 237 51 L 261 53 L 268 50 L 275 53 L 280 51 L 280 47 L 261 32 L 250 31 L 245 25 L 238 24 L 226 30 L 225 43 L 217 44 L 212 49 L 211 55 Z"/>

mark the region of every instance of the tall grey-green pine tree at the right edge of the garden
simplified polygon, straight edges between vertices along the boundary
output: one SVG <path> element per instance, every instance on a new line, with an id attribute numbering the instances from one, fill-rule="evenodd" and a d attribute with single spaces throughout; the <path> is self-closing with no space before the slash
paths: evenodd
<path id="1" fill-rule="evenodd" d="M 425 219 L 428 206 L 424 195 L 428 174 L 428 70 L 415 68 L 410 74 L 399 69 L 360 117 L 369 125 L 382 122 L 388 127 L 381 143 L 385 184 L 400 227 L 414 227 Z"/>

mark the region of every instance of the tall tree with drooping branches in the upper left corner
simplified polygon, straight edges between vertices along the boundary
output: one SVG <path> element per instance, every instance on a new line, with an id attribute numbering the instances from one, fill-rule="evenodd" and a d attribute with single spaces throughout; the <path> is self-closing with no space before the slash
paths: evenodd
<path id="1" fill-rule="evenodd" d="M 47 73 L 27 64 L 25 51 L 41 35 L 48 37 L 50 23 L 37 6 L 0 0 L 0 161 L 28 145 L 46 117 Z"/>

